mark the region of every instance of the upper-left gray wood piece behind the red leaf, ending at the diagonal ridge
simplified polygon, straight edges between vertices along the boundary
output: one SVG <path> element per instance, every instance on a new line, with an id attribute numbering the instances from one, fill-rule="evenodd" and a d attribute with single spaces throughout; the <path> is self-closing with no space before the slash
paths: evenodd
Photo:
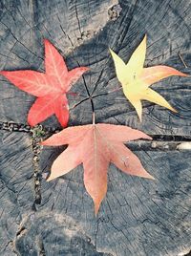
<path id="1" fill-rule="evenodd" d="M 44 38 L 50 39 L 64 56 L 69 55 L 70 69 L 76 67 L 80 59 L 74 57 L 74 49 L 100 32 L 109 21 L 107 11 L 116 4 L 117 0 L 1 1 L 0 69 L 43 71 Z M 88 58 L 84 60 L 83 64 L 88 65 Z M 0 79 L 0 120 L 26 123 L 34 97 L 11 86 L 3 77 Z M 78 86 L 78 93 L 82 91 L 87 96 L 82 80 Z M 88 105 L 91 106 L 87 102 L 86 109 Z M 54 117 L 47 123 L 58 125 Z"/>

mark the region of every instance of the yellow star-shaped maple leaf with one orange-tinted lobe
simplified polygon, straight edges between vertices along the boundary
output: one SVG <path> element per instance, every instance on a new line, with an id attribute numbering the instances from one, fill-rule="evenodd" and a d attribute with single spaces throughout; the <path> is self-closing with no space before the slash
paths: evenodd
<path id="1" fill-rule="evenodd" d="M 122 85 L 123 93 L 135 107 L 140 121 L 142 116 L 141 99 L 151 101 L 173 112 L 177 112 L 163 96 L 160 96 L 149 86 L 171 75 L 187 75 L 168 66 L 143 68 L 146 54 L 146 35 L 127 64 L 111 49 L 110 53 L 114 59 L 117 78 Z"/>

